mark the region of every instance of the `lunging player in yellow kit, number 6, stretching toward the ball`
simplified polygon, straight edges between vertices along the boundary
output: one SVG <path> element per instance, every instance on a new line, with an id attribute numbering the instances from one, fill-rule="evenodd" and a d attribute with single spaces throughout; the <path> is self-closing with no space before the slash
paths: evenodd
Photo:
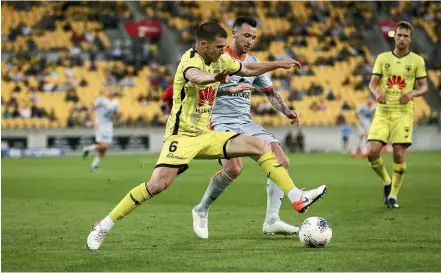
<path id="1" fill-rule="evenodd" d="M 87 238 L 87 247 L 91 250 L 101 246 L 116 221 L 168 188 L 176 176 L 188 168 L 193 158 L 257 157 L 262 170 L 283 190 L 300 213 L 326 191 L 325 185 L 309 191 L 297 188 L 277 161 L 270 144 L 264 140 L 245 134 L 211 131 L 209 126 L 218 86 L 220 82 L 226 82 L 228 75 L 255 76 L 278 68 L 300 68 L 300 64 L 292 59 L 242 64 L 223 55 L 227 32 L 215 22 L 201 24 L 195 34 L 196 46 L 182 56 L 175 74 L 173 108 L 166 126 L 164 146 L 152 176 L 133 188 L 108 216 L 94 224 Z M 251 85 L 242 86 L 242 91 L 252 88 Z"/>

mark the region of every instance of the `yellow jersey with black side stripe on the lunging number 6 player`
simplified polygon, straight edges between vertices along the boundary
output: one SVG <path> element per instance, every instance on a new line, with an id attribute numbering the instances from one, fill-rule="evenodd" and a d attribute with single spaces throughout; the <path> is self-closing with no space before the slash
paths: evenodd
<path id="1" fill-rule="evenodd" d="M 185 78 L 190 68 L 198 68 L 211 74 L 229 71 L 230 75 L 242 69 L 242 63 L 227 54 L 212 63 L 206 63 L 195 48 L 181 58 L 173 83 L 173 107 L 167 121 L 165 138 L 171 135 L 198 136 L 210 132 L 211 112 L 219 82 L 199 85 Z"/>

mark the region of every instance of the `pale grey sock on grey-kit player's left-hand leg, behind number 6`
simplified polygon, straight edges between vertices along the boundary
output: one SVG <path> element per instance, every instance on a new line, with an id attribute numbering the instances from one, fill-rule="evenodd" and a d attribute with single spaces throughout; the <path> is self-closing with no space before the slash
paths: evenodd
<path id="1" fill-rule="evenodd" d="M 213 175 L 201 202 L 196 207 L 196 211 L 208 212 L 214 200 L 216 200 L 233 181 L 234 179 L 231 179 L 223 170 Z"/>

